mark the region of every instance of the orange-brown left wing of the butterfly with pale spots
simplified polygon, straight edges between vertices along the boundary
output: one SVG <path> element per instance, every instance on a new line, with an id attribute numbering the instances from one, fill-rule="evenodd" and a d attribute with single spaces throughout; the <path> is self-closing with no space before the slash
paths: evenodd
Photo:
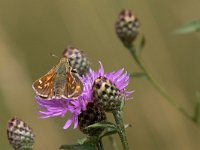
<path id="1" fill-rule="evenodd" d="M 54 96 L 54 78 L 56 75 L 55 67 L 47 74 L 36 80 L 32 87 L 37 95 L 48 99 Z"/>

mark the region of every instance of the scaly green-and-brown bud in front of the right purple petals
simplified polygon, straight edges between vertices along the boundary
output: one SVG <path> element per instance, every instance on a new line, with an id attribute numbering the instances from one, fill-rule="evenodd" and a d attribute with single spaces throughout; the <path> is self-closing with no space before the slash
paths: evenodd
<path id="1" fill-rule="evenodd" d="M 94 103 L 97 107 L 107 112 L 120 109 L 123 97 L 116 85 L 106 77 L 97 78 L 92 90 Z"/>

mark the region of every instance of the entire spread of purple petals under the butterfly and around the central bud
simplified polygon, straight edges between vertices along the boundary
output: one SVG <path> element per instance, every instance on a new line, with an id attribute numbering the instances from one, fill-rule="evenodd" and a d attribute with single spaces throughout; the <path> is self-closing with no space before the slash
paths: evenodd
<path id="1" fill-rule="evenodd" d="M 117 72 L 104 73 L 104 68 L 100 63 L 100 69 L 98 71 L 92 71 L 82 78 L 84 88 L 82 94 L 77 99 L 52 99 L 44 100 L 39 96 L 36 96 L 36 100 L 40 105 L 42 111 L 39 113 L 41 118 L 49 118 L 55 116 L 64 117 L 66 113 L 71 113 L 71 117 L 64 125 L 64 129 L 69 128 L 71 124 L 74 124 L 74 128 L 78 126 L 78 116 L 82 111 L 86 110 L 86 106 L 89 102 L 93 102 L 92 99 L 92 85 L 98 77 L 106 77 L 113 82 L 120 90 L 120 93 L 126 96 L 126 100 L 130 99 L 132 91 L 126 91 L 126 87 L 129 83 L 129 75 L 127 72 L 123 73 L 124 69 L 120 69 Z"/>

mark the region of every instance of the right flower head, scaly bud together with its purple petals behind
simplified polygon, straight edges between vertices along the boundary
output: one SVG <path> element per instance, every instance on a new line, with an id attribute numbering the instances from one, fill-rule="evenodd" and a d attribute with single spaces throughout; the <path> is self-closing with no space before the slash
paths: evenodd
<path id="1" fill-rule="evenodd" d="M 124 69 L 117 72 L 104 73 L 104 68 L 90 74 L 84 79 L 88 96 L 94 103 L 103 110 L 110 112 L 120 109 L 123 100 L 130 99 L 132 91 L 126 91 L 129 83 L 129 75 L 123 73 Z"/>

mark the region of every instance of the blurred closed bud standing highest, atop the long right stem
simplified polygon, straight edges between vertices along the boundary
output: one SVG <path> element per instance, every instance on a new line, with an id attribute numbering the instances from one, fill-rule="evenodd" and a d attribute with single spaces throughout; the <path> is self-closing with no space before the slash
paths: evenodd
<path id="1" fill-rule="evenodd" d="M 115 30 L 125 45 L 130 45 L 139 33 L 139 21 L 130 10 L 123 10 L 115 24 Z"/>

